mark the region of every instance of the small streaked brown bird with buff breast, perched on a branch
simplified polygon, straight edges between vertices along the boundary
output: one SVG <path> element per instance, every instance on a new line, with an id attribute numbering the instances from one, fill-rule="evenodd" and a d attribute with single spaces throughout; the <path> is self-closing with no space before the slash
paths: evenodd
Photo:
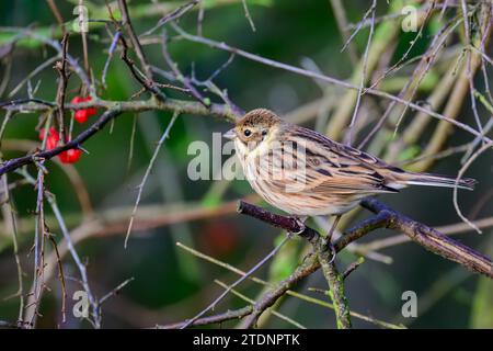
<path id="1" fill-rule="evenodd" d="M 406 172 L 265 109 L 246 113 L 225 136 L 234 140 L 252 188 L 272 205 L 299 217 L 341 215 L 364 197 L 411 184 L 455 186 L 455 179 Z M 462 179 L 458 186 L 472 190 L 474 183 Z"/>

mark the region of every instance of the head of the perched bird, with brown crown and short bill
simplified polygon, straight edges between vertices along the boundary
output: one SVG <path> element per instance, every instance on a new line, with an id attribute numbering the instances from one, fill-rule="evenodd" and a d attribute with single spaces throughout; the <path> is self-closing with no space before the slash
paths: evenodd
<path id="1" fill-rule="evenodd" d="M 256 109 L 246 113 L 223 136 L 234 140 L 237 150 L 251 152 L 260 146 L 267 146 L 273 140 L 283 120 L 274 112 Z"/>

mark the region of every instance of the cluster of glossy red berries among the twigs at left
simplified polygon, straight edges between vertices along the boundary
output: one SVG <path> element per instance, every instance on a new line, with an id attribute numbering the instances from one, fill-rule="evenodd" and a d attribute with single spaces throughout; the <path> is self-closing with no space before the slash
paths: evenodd
<path id="1" fill-rule="evenodd" d="M 89 102 L 91 101 L 91 97 L 82 98 L 82 97 L 76 97 L 72 99 L 71 103 L 81 103 L 81 102 Z M 73 114 L 73 118 L 79 123 L 84 123 L 88 121 L 88 118 L 96 113 L 95 107 L 89 107 L 89 109 L 81 109 L 77 110 Z M 45 129 L 39 131 L 39 139 L 45 139 Z M 51 150 L 57 147 L 58 141 L 60 141 L 60 135 L 58 134 L 57 129 L 54 127 L 50 127 L 46 137 L 46 149 Z M 68 141 L 68 140 L 66 140 Z M 79 160 L 81 157 L 82 151 L 79 149 L 69 149 L 67 151 L 60 152 L 58 155 L 58 158 L 62 163 L 74 163 Z"/>

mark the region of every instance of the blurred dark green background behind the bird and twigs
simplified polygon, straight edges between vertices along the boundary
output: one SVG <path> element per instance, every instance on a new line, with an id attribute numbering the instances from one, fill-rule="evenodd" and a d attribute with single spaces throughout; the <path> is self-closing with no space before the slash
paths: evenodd
<path id="1" fill-rule="evenodd" d="M 73 18 L 72 8 L 77 1 L 57 1 L 66 21 Z M 88 2 L 88 1 L 84 1 Z M 146 7 L 158 1 L 128 1 L 130 14 L 137 33 L 144 33 L 154 25 L 161 18 L 159 11 L 147 11 Z M 94 9 L 104 10 L 104 1 L 90 1 L 90 18 L 100 14 L 92 13 Z M 174 7 L 180 1 L 159 1 L 159 3 Z M 306 0 L 257 0 L 248 1 L 249 10 L 255 23 L 256 31 L 252 32 L 244 16 L 241 1 L 206 1 L 208 4 L 204 22 L 203 35 L 246 52 L 299 66 L 310 58 L 328 76 L 346 79 L 352 73 L 352 65 L 346 52 L 341 53 L 343 42 L 336 26 L 329 1 Z M 347 18 L 356 23 L 367 11 L 369 1 L 344 1 Z M 379 1 L 378 13 L 386 13 L 386 1 Z M 141 12 L 137 11 L 140 10 Z M 139 13 L 139 14 L 137 14 Z M 180 21 L 188 32 L 196 31 L 197 11 L 193 10 Z M 16 0 L 2 1 L 0 4 L 0 25 L 35 29 L 56 29 L 56 21 L 45 1 Z M 411 52 L 411 56 L 424 50 L 433 33 L 427 29 L 422 41 Z M 170 31 L 172 33 L 172 31 Z M 2 44 L 11 34 L 1 32 Z M 363 53 L 366 45 L 368 29 L 355 37 L 355 46 Z M 107 57 L 110 38 L 103 26 L 91 24 L 89 32 L 90 66 L 96 77 Z M 394 53 L 398 58 L 406 50 L 412 35 L 401 33 L 399 45 Z M 169 50 L 184 73 L 192 69 L 198 79 L 205 79 L 228 60 L 229 54 L 209 47 L 187 43 L 172 42 Z M 69 52 L 76 57 L 81 55 L 81 38 L 72 35 Z M 159 45 L 146 45 L 145 52 L 152 65 L 168 69 Z M 491 49 L 490 49 L 491 52 Z M 26 73 L 35 69 L 41 63 L 55 55 L 51 48 L 30 43 L 20 43 L 14 52 L 10 71 L 9 86 L 1 97 L 1 101 L 9 100 L 8 92 L 13 89 Z M 395 59 L 394 58 L 394 59 Z M 53 101 L 56 95 L 57 73 L 49 66 L 42 73 L 32 79 L 32 86 L 41 81 L 36 97 Z M 5 63 L 2 61 L 0 75 L 5 77 Z M 159 79 L 158 79 L 159 80 Z M 127 67 L 118 58 L 112 59 L 107 73 L 107 89 L 101 97 L 107 100 L 129 100 L 130 95 L 140 88 L 129 73 Z M 217 86 L 227 89 L 230 99 L 244 110 L 268 107 L 279 113 L 288 113 L 297 106 L 308 103 L 323 95 L 320 86 L 311 79 L 249 61 L 236 57 L 233 61 L 215 79 Z M 68 94 L 71 99 L 78 91 L 79 81 L 71 78 Z M 182 99 L 190 99 L 183 94 L 169 92 Z M 339 91 L 341 93 L 341 91 Z M 20 90 L 16 98 L 26 97 L 26 87 Z M 140 99 L 142 97 L 136 98 Z M 220 102 L 217 98 L 214 101 Z M 485 111 L 480 110 L 483 118 Z M 2 112 L 4 115 L 4 112 Z M 94 118 L 94 117 L 92 117 Z M 111 211 L 131 208 L 140 182 L 153 152 L 156 141 L 171 118 L 170 113 L 146 112 L 137 117 L 126 113 L 118 117 L 114 125 L 89 139 L 84 148 L 90 155 L 83 155 L 76 165 L 77 171 L 89 192 L 95 216 L 105 216 Z M 473 116 L 469 101 L 462 107 L 460 121 L 473 125 Z M 37 114 L 18 114 L 9 122 L 3 139 L 30 139 L 37 141 L 35 127 L 38 123 Z M 134 157 L 129 163 L 133 126 L 136 123 L 134 139 Z M 316 127 L 316 120 L 303 123 Z M 249 194 L 250 185 L 245 181 L 234 181 L 230 185 L 223 182 L 191 181 L 186 169 L 194 157 L 187 155 L 191 141 L 205 140 L 211 144 L 213 132 L 225 132 L 229 125 L 205 116 L 181 115 L 171 131 L 170 138 L 162 148 L 154 169 L 144 190 L 140 206 L 162 206 L 158 213 L 180 213 L 191 208 L 213 211 Z M 74 133 L 83 131 L 83 126 L 76 125 Z M 470 135 L 456 131 L 448 145 L 461 145 L 469 141 Z M 424 145 L 417 145 L 423 147 Z M 2 158 L 9 159 L 21 156 L 24 151 L 2 149 Z M 460 165 L 461 155 L 455 155 L 436 162 L 433 171 L 455 176 Z M 460 192 L 459 201 L 465 214 L 483 218 L 492 215 L 492 201 L 486 197 L 485 203 L 478 210 L 477 204 L 482 196 L 492 192 L 492 154 L 484 154 L 472 165 L 467 177 L 479 180 L 474 192 Z M 81 208 L 66 173 L 58 165 L 47 165 L 49 174 L 47 185 L 58 201 L 70 227 L 77 227 L 82 220 Z M 33 169 L 30 170 L 34 173 Z M 11 176 L 10 181 L 16 176 Z M 222 193 L 222 190 L 226 192 Z M 33 259 L 30 249 L 33 240 L 36 193 L 31 185 L 19 186 L 12 192 L 19 217 L 25 219 L 26 230 L 20 233 L 20 256 L 22 267 L 26 271 L 25 288 L 28 290 L 32 279 Z M 431 226 L 459 223 L 452 206 L 452 192 L 446 189 L 413 188 L 399 195 L 382 196 L 382 200 L 393 208 Z M 262 204 L 266 206 L 265 204 Z M 167 207 L 171 206 L 171 207 Z M 170 210 L 171 208 L 171 210 Z M 48 213 L 49 215 L 50 213 Z M 358 218 L 367 217 L 362 212 Z M 128 217 L 127 217 L 128 218 Z M 137 219 L 139 213 L 137 214 Z M 123 220 L 125 224 L 126 222 Z M 57 239 L 60 234 L 57 234 Z M 492 230 L 485 229 L 482 236 L 469 231 L 458 236 L 459 240 L 481 252 L 493 253 Z M 237 276 L 225 269 L 204 262 L 176 247 L 175 242 L 184 242 L 204 253 L 228 262 L 242 270 L 248 270 L 256 261 L 272 250 L 279 230 L 268 227 L 249 217 L 229 211 L 225 215 L 205 216 L 198 220 L 179 222 L 173 225 L 162 225 L 157 228 L 135 229 L 127 249 L 124 249 L 125 229 L 107 236 L 95 236 L 78 246 L 79 254 L 88 263 L 90 283 L 98 296 L 102 296 L 123 281 L 134 278 L 117 296 L 111 297 L 103 305 L 103 326 L 117 327 L 152 327 L 156 324 L 180 321 L 194 316 L 208 305 L 222 288 L 214 283 L 215 279 L 231 283 Z M 395 233 L 378 230 L 363 239 L 392 236 Z M 286 246 L 275 264 L 267 265 L 259 273 L 264 279 L 280 279 L 289 274 L 299 261 L 299 252 L 303 244 L 300 240 Z M 358 268 L 346 282 L 346 292 L 352 310 L 371 317 L 404 324 L 413 328 L 474 328 L 493 327 L 493 285 L 486 279 L 465 271 L 462 268 L 446 261 L 414 244 L 404 244 L 382 251 L 393 259 L 392 264 L 385 264 L 372 260 Z M 354 261 L 355 257 L 344 253 L 341 267 Z M 64 267 L 66 274 L 78 276 L 76 267 L 69 256 Z M 38 319 L 38 327 L 88 328 L 87 321 L 80 321 L 68 315 L 68 321 L 59 325 L 60 318 L 60 287 L 55 278 L 46 292 Z M 322 294 L 308 292 L 308 287 L 324 288 L 325 282 L 320 272 L 314 273 L 297 290 L 308 295 L 326 299 Z M 15 261 L 12 254 L 10 234 L 2 230 L 0 235 L 0 319 L 15 320 L 18 314 L 18 298 L 3 301 L 3 297 L 15 293 L 18 278 Z M 68 292 L 78 290 L 77 282 L 68 282 Z M 255 298 L 261 286 L 245 282 L 239 288 L 250 298 Z M 402 318 L 401 295 L 404 291 L 414 291 L 419 296 L 419 317 Z M 68 307 L 73 302 L 69 298 Z M 241 307 L 245 303 L 238 297 L 230 296 L 216 309 L 216 313 L 228 308 Z M 333 312 L 320 306 L 308 304 L 293 297 L 287 297 L 279 306 L 279 312 L 294 318 L 309 328 L 334 327 Z M 353 320 L 355 327 L 375 328 L 374 325 Z M 236 322 L 223 326 L 232 327 Z M 217 326 L 216 326 L 217 327 Z M 264 327 L 291 327 L 275 317 L 270 318 Z"/>

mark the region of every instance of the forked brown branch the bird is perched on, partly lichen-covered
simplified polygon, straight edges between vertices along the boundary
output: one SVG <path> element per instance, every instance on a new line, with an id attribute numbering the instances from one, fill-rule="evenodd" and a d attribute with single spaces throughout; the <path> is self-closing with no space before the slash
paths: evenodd
<path id="1" fill-rule="evenodd" d="M 334 242 L 334 250 L 336 252 L 343 250 L 351 242 L 359 239 L 360 237 L 374 231 L 377 228 L 390 228 L 399 230 L 408 235 L 412 240 L 420 244 L 427 250 L 439 254 L 446 259 L 455 261 L 465 268 L 471 270 L 475 273 L 485 274 L 486 276 L 493 278 L 492 265 L 493 262 L 490 258 L 461 245 L 460 242 L 450 239 L 449 237 L 438 233 L 437 230 L 425 226 L 424 224 L 417 223 L 411 218 L 408 218 L 398 212 L 387 207 L 385 204 L 380 203 L 375 199 L 365 200 L 362 205 L 365 208 L 374 212 L 376 215 L 359 223 L 356 227 L 346 230 L 345 235 L 342 236 L 337 241 Z M 283 228 L 290 233 L 298 233 L 303 228 L 297 220 L 291 217 L 282 216 L 277 214 L 270 213 L 259 206 L 248 204 L 245 202 L 240 202 L 238 206 L 238 212 L 241 214 L 249 215 L 262 222 L 265 222 L 272 226 Z M 245 319 L 244 326 L 253 327 L 255 326 L 259 317 L 267 308 L 273 306 L 275 302 L 284 295 L 284 293 L 295 285 L 298 281 L 305 276 L 310 275 L 312 272 L 317 271 L 321 265 L 330 263 L 330 257 L 326 257 L 326 250 L 324 250 L 323 237 L 320 234 L 310 228 L 305 227 L 305 229 L 299 233 L 299 236 L 303 237 L 313 246 L 317 254 L 311 254 L 305 262 L 298 267 L 298 269 L 285 281 L 280 282 L 275 288 L 271 290 L 264 294 L 254 305 L 253 312 Z M 323 263 L 321 263 L 323 262 Z M 329 270 L 326 273 L 330 273 Z M 328 275 L 328 274 L 325 274 Z M 334 279 L 330 280 L 329 284 L 331 286 L 331 292 L 341 286 L 341 280 Z M 341 291 L 339 291 L 341 293 Z M 343 291 L 342 291 L 343 292 Z M 344 303 L 344 294 L 340 295 L 339 298 L 343 302 L 340 308 L 336 308 L 336 314 L 342 314 L 340 320 L 347 321 L 346 316 L 347 304 Z M 341 327 L 349 327 L 349 325 L 341 325 Z"/>

